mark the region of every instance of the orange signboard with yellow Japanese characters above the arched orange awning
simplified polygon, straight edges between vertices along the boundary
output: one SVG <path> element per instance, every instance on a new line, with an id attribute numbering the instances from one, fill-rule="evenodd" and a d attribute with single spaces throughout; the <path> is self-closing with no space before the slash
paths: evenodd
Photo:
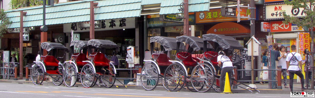
<path id="1" fill-rule="evenodd" d="M 241 16 L 250 15 L 250 10 L 247 8 L 241 8 Z M 238 14 L 238 12 L 236 12 Z M 221 16 L 221 8 L 210 9 L 209 11 L 196 12 L 196 23 L 214 23 L 214 22 L 227 22 L 227 21 L 237 21 L 237 18 L 223 17 Z M 248 20 L 248 18 L 241 18 L 242 20 Z"/>

